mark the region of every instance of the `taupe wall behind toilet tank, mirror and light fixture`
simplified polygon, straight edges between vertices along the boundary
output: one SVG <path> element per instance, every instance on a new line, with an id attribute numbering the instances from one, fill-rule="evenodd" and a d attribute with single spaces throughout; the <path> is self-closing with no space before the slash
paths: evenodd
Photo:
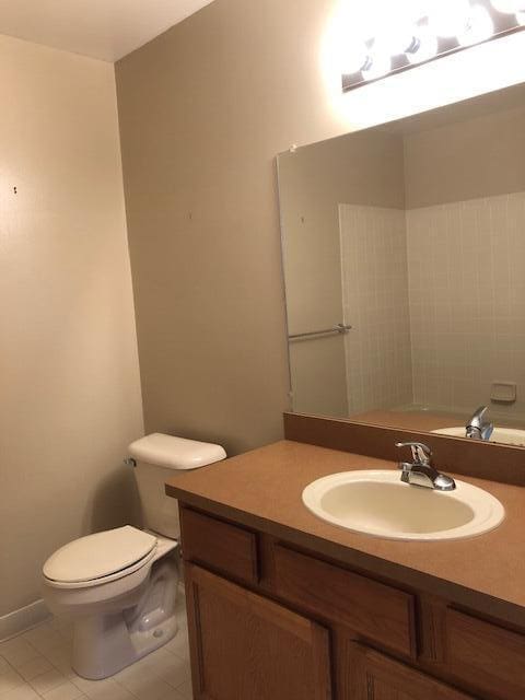
<path id="1" fill-rule="evenodd" d="M 117 63 L 149 430 L 281 435 L 277 153 L 525 79 L 514 35 L 341 95 L 335 7 L 215 0 Z"/>

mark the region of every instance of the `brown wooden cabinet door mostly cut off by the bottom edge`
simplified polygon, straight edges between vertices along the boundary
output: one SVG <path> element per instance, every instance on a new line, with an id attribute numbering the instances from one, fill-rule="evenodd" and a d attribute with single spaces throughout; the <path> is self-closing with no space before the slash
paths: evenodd
<path id="1" fill-rule="evenodd" d="M 353 645 L 347 697 L 352 700 L 474 700 L 378 652 Z"/>

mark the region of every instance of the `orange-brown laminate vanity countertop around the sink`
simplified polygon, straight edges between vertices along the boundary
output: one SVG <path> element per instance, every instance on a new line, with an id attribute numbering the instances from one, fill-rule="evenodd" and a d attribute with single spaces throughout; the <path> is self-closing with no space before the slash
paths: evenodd
<path id="1" fill-rule="evenodd" d="M 457 477 L 492 493 L 506 516 L 486 535 L 446 541 L 360 535 L 325 523 L 303 505 L 304 487 L 319 477 L 385 468 L 397 465 L 284 440 L 174 472 L 166 493 L 363 572 L 525 627 L 525 489 Z M 447 474 L 455 476 L 453 469 Z"/>

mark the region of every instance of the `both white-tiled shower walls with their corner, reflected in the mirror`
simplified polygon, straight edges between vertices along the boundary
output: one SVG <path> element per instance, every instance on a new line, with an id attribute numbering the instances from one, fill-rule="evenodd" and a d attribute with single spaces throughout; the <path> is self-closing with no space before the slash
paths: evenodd
<path id="1" fill-rule="evenodd" d="M 350 412 L 471 412 L 493 382 L 525 416 L 525 194 L 412 209 L 341 205 Z"/>

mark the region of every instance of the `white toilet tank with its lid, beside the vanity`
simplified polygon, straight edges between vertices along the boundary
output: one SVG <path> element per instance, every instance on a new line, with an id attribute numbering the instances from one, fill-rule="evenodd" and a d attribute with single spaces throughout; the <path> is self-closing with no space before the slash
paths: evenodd
<path id="1" fill-rule="evenodd" d="M 167 497 L 164 485 L 174 470 L 198 469 L 226 458 L 224 448 L 207 442 L 153 433 L 131 443 L 129 455 L 136 463 L 143 526 L 159 535 L 178 539 L 177 500 Z"/>

